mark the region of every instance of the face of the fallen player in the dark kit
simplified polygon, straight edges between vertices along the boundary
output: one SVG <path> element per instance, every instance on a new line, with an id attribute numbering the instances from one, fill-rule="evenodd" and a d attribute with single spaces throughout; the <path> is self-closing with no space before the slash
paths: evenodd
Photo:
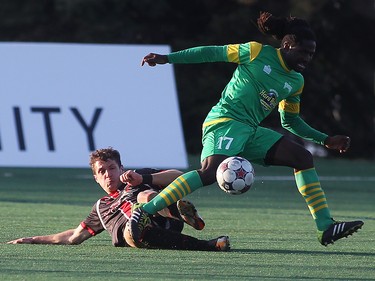
<path id="1" fill-rule="evenodd" d="M 115 192 L 121 185 L 120 175 L 122 168 L 116 161 L 109 159 L 107 161 L 98 160 L 94 164 L 95 181 L 104 189 L 105 192 Z"/>

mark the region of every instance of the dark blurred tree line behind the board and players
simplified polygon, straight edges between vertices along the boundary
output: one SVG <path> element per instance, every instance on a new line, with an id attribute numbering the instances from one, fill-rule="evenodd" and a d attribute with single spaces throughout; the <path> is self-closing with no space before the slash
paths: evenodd
<path id="1" fill-rule="evenodd" d="M 302 117 L 328 134 L 351 136 L 347 157 L 374 159 L 374 0 L 1 0 L 0 41 L 168 44 L 177 51 L 256 40 L 278 47 L 257 30 L 259 11 L 310 22 L 318 46 L 304 73 Z M 234 67 L 174 66 L 189 153 L 200 152 L 202 121 Z M 281 130 L 277 111 L 263 125 Z"/>

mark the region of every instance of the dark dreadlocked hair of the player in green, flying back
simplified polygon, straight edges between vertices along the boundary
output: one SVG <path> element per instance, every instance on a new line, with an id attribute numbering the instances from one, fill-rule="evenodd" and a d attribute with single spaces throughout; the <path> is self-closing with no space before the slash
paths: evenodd
<path id="1" fill-rule="evenodd" d="M 282 43 L 288 41 L 294 45 L 303 40 L 316 41 L 314 31 L 304 19 L 275 17 L 271 13 L 260 12 L 257 25 L 260 32 L 282 40 Z"/>

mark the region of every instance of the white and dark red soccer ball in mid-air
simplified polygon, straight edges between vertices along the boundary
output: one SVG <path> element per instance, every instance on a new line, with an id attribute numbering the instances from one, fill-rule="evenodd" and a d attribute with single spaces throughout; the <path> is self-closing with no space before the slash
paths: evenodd
<path id="1" fill-rule="evenodd" d="M 216 171 L 219 187 L 229 194 L 242 194 L 254 183 L 254 168 L 243 157 L 234 156 L 225 159 Z"/>

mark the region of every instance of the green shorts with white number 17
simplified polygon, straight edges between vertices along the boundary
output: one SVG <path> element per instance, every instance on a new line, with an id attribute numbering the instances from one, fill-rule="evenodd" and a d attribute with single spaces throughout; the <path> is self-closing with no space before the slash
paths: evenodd
<path id="1" fill-rule="evenodd" d="M 203 129 L 201 161 L 214 154 L 242 156 L 250 162 L 265 165 L 268 150 L 282 134 L 236 120 L 216 123 Z"/>

